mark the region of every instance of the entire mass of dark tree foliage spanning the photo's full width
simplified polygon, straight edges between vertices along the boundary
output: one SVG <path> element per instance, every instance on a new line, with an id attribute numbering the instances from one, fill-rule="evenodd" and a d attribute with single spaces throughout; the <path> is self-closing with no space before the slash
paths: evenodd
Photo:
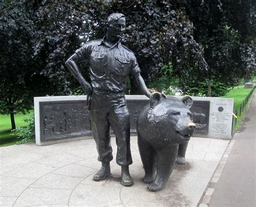
<path id="1" fill-rule="evenodd" d="M 255 68 L 252 0 L 4 1 L 1 113 L 28 109 L 33 96 L 81 94 L 64 62 L 84 42 L 103 37 L 112 12 L 126 16 L 122 41 L 151 83 L 169 62 L 165 81 L 179 78 L 184 92 L 207 81 L 233 86 Z"/>

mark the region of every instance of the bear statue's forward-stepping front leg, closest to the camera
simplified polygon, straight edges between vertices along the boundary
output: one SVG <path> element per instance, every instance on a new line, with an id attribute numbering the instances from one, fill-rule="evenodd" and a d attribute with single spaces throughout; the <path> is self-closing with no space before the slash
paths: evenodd
<path id="1" fill-rule="evenodd" d="M 147 189 L 150 191 L 158 191 L 165 187 L 165 184 L 172 173 L 177 153 L 178 144 L 174 144 L 167 149 L 157 151 L 157 176 L 154 182 L 152 182 L 150 185 L 147 185 Z"/>

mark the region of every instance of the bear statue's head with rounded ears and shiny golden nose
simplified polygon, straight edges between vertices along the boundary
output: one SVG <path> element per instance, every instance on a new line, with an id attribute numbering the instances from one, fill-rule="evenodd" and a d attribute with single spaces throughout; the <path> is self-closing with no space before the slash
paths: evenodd
<path id="1" fill-rule="evenodd" d="M 190 108 L 193 100 L 190 96 L 165 97 L 159 92 L 154 92 L 150 97 L 150 110 L 147 118 L 151 123 L 160 127 L 161 137 L 171 139 L 172 142 L 180 144 L 190 140 L 190 136 L 196 129 L 193 123 Z"/>

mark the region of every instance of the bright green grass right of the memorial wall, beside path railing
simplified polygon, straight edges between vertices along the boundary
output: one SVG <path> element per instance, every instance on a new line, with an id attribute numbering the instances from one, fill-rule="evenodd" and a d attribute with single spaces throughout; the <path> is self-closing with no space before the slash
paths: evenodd
<path id="1" fill-rule="evenodd" d="M 228 91 L 227 94 L 225 96 L 221 96 L 221 98 L 234 98 L 233 112 L 235 112 L 235 110 L 239 110 L 239 106 L 251 90 L 251 88 L 244 88 L 244 85 L 240 85 L 239 87 L 235 87 Z"/>

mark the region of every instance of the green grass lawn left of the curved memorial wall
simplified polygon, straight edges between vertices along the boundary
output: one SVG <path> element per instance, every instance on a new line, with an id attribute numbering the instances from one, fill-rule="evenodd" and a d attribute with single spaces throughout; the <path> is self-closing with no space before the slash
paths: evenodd
<path id="1" fill-rule="evenodd" d="M 28 115 L 29 113 L 26 115 L 17 113 L 14 115 L 16 127 L 26 126 L 27 123 L 24 122 L 23 119 Z M 14 145 L 17 141 L 21 141 L 21 139 L 18 139 L 16 135 L 11 134 L 10 115 L 0 115 L 0 147 Z"/>

